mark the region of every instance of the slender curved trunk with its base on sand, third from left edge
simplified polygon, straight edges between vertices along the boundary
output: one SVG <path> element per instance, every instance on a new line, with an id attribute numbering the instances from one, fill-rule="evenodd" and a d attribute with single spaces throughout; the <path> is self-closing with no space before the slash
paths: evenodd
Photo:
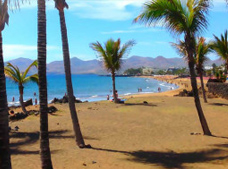
<path id="1" fill-rule="evenodd" d="M 64 11 L 59 10 L 59 16 L 60 16 L 60 23 L 61 23 L 63 60 L 64 60 L 64 68 L 65 68 L 65 76 L 66 76 L 69 109 L 71 113 L 74 133 L 76 137 L 76 143 L 80 148 L 84 148 L 85 142 L 81 133 L 79 120 L 78 120 L 78 116 L 75 108 L 75 97 L 74 97 L 74 91 L 73 91 L 72 80 L 71 80 L 70 54 L 69 54 L 69 45 L 68 45 Z"/>

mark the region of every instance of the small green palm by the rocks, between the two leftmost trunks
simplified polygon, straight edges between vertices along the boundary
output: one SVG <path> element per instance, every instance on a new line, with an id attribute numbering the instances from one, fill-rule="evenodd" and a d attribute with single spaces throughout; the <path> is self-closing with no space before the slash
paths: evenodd
<path id="1" fill-rule="evenodd" d="M 29 70 L 35 66 L 37 67 L 37 60 L 35 60 L 34 62 L 32 62 L 29 67 L 25 70 L 25 72 L 21 72 L 20 69 L 17 66 L 12 65 L 11 63 L 7 63 L 7 66 L 5 66 L 5 74 L 11 79 L 13 80 L 15 83 L 18 84 L 19 87 L 19 94 L 20 94 L 20 104 L 21 104 L 21 108 L 22 111 L 27 114 L 27 111 L 25 109 L 25 105 L 24 105 L 24 99 L 23 99 L 23 94 L 24 94 L 24 85 L 28 82 L 36 82 L 38 83 L 38 75 L 37 74 L 33 74 L 30 76 L 28 75 Z"/>

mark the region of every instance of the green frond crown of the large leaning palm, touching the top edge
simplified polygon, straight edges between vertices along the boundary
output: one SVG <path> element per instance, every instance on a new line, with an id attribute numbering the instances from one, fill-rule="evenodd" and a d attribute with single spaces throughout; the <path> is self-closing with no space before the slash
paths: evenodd
<path id="1" fill-rule="evenodd" d="M 207 0 L 152 0 L 144 4 L 143 12 L 134 22 L 146 25 L 162 24 L 176 34 L 199 33 L 207 27 Z"/>

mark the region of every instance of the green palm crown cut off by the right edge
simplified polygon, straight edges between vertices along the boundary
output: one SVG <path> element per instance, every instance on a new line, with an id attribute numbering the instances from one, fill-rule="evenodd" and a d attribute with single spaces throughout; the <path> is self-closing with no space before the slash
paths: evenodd
<path id="1" fill-rule="evenodd" d="M 219 39 L 215 36 L 215 40 L 211 43 L 212 49 L 217 53 L 217 55 L 225 61 L 226 69 L 228 71 L 228 39 L 227 39 L 227 30 L 224 35 L 221 34 Z M 228 72 L 227 72 L 228 74 Z"/>

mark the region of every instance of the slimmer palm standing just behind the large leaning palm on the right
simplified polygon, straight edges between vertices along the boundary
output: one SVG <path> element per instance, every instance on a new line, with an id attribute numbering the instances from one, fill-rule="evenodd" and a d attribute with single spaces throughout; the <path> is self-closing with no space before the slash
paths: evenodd
<path id="1" fill-rule="evenodd" d="M 207 103 L 207 97 L 206 97 L 206 92 L 205 92 L 204 82 L 203 82 L 203 72 L 204 72 L 204 63 L 208 60 L 207 54 L 209 52 L 211 52 L 210 45 L 205 42 L 205 38 L 200 37 L 196 44 L 195 61 L 196 61 L 196 71 L 200 77 L 201 88 L 203 91 L 203 99 L 205 103 Z"/>

